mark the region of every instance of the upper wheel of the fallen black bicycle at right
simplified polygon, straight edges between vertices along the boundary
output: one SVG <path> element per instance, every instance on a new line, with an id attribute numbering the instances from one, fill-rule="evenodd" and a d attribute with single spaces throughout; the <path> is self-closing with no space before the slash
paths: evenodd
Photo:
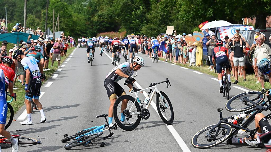
<path id="1" fill-rule="evenodd" d="M 231 112 L 241 112 L 241 111 L 246 111 L 251 108 L 254 108 L 255 106 L 251 104 L 250 102 L 247 102 L 245 99 L 249 99 L 249 100 L 254 99 L 255 101 L 253 102 L 260 104 L 263 102 L 265 98 L 265 94 L 262 94 L 260 95 L 259 98 L 257 98 L 259 94 L 261 93 L 262 93 L 261 91 L 248 91 L 248 92 L 237 94 L 227 101 L 225 108 Z"/>

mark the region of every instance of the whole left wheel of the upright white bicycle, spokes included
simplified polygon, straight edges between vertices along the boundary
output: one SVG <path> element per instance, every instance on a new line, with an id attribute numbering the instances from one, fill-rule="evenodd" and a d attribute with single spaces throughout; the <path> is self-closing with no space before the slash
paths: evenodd
<path id="1" fill-rule="evenodd" d="M 127 101 L 127 105 L 122 103 L 123 100 Z M 125 115 L 121 116 L 123 115 L 123 113 L 125 113 Z M 138 113 L 138 114 L 134 114 L 134 113 Z M 113 115 L 114 115 L 115 122 L 118 124 L 118 126 L 121 129 L 126 130 L 126 131 L 134 130 L 140 123 L 140 120 L 141 120 L 140 114 L 141 114 L 140 105 L 138 104 L 137 101 L 135 101 L 134 97 L 130 95 L 122 95 L 118 97 L 118 99 L 115 101 L 115 104 L 113 107 Z M 130 116 L 131 118 L 128 118 L 128 116 Z M 128 118 L 128 122 L 130 121 L 131 124 L 128 124 L 128 125 L 122 124 L 122 121 L 127 120 L 127 118 Z"/>

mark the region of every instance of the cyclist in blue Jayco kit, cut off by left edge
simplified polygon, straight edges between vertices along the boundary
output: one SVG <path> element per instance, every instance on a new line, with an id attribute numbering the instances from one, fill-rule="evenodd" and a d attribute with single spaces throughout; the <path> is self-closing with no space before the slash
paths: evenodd
<path id="1" fill-rule="evenodd" d="M 5 130 L 5 124 L 7 121 L 8 104 L 7 104 L 6 92 L 5 92 L 5 75 L 2 69 L 0 69 L 0 107 L 1 107 L 0 134 L 11 141 L 12 152 L 17 152 L 18 141 L 11 136 L 9 131 Z M 1 147 L 0 147 L 0 151 L 1 151 Z"/>

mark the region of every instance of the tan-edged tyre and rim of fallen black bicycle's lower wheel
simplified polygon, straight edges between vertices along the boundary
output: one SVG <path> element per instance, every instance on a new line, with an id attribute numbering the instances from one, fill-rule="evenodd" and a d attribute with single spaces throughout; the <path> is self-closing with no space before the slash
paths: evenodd
<path id="1" fill-rule="evenodd" d="M 195 147 L 195 148 L 206 149 L 206 148 L 214 147 L 214 146 L 216 146 L 216 145 L 218 145 L 218 144 L 221 144 L 222 142 L 224 142 L 225 140 L 227 140 L 227 139 L 230 137 L 230 135 L 231 135 L 233 129 L 232 129 L 232 128 L 229 128 L 229 127 L 231 127 L 229 124 L 221 123 L 218 127 L 221 127 L 221 128 L 227 128 L 227 129 L 226 129 L 227 132 L 226 132 L 225 135 L 223 135 L 223 136 L 221 137 L 220 140 L 218 140 L 218 141 L 213 141 L 213 143 L 210 143 L 210 144 L 199 144 L 199 143 L 197 142 L 197 139 L 198 139 L 199 135 L 201 135 L 202 133 L 204 133 L 204 131 L 213 128 L 215 125 L 216 125 L 216 124 L 209 125 L 209 126 L 203 128 L 203 129 L 201 129 L 200 131 L 198 131 L 198 132 L 193 136 L 193 138 L 192 138 L 192 140 L 191 140 L 192 146 Z M 204 136 L 205 136 L 205 138 L 207 138 L 207 137 L 206 137 L 206 134 L 204 134 Z"/>

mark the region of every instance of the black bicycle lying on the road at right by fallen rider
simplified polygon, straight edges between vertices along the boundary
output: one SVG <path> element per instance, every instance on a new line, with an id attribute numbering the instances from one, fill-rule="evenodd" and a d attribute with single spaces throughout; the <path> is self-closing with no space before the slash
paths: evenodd
<path id="1" fill-rule="evenodd" d="M 247 92 L 244 92 L 247 93 Z M 249 97 L 242 97 L 240 101 L 242 103 L 249 103 L 247 106 L 250 107 L 249 110 L 243 111 L 236 115 L 233 115 L 228 118 L 222 117 L 222 108 L 218 108 L 217 111 L 220 113 L 220 121 L 217 124 L 209 125 L 201 130 L 199 130 L 192 138 L 192 145 L 195 148 L 210 148 L 214 147 L 218 144 L 223 143 L 227 140 L 227 144 L 231 144 L 231 138 L 236 137 L 236 134 L 243 134 L 244 132 L 249 132 L 249 137 L 254 137 L 258 128 L 254 130 L 250 130 L 247 127 L 254 121 L 255 115 L 261 113 L 262 111 L 270 110 L 271 108 L 271 101 L 270 97 L 268 97 L 267 102 L 263 101 L 264 94 L 266 92 L 254 91 L 254 94 L 257 94 L 257 97 L 250 100 Z M 233 98 L 238 98 L 240 95 L 234 96 Z M 261 105 L 254 101 L 263 101 Z M 269 104 L 267 106 L 267 103 Z M 250 106 L 253 105 L 253 106 Z M 271 111 L 271 110 L 270 110 Z M 237 112 L 237 111 L 235 111 Z M 244 115 L 246 117 L 240 117 L 240 115 Z M 237 116 L 237 120 L 234 122 L 234 117 Z M 235 117 L 236 118 L 236 117 Z M 266 115 L 266 118 L 271 118 L 271 114 Z M 231 123 L 233 122 L 233 123 Z M 235 124 L 234 124 L 235 123 Z"/>

